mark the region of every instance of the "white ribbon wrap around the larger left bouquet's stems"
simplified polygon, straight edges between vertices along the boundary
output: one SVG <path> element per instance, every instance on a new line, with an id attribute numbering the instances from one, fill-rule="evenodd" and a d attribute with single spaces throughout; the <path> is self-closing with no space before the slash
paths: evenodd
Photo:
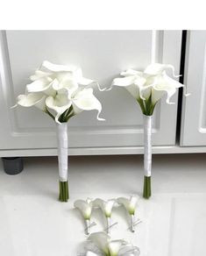
<path id="1" fill-rule="evenodd" d="M 67 181 L 67 123 L 57 124 L 60 181 Z"/>

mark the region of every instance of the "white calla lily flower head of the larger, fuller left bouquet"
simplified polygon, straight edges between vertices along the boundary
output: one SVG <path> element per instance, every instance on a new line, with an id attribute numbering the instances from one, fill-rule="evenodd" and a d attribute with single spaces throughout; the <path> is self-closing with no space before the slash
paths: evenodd
<path id="1" fill-rule="evenodd" d="M 97 110 L 97 119 L 104 120 L 99 117 L 102 104 L 94 96 L 93 89 L 88 88 L 94 83 L 98 88 L 99 85 L 83 77 L 81 68 L 56 65 L 46 60 L 30 79 L 32 83 L 26 85 L 25 95 L 18 96 L 17 105 L 35 106 L 57 123 L 67 122 L 82 110 Z"/>

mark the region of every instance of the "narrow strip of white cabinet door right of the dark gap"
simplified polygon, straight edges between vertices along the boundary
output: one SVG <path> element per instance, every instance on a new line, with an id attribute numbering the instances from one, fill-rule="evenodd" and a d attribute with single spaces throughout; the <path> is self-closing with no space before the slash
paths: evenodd
<path id="1" fill-rule="evenodd" d="M 206 146 L 206 31 L 190 31 L 187 36 L 183 96 L 181 146 Z"/>

